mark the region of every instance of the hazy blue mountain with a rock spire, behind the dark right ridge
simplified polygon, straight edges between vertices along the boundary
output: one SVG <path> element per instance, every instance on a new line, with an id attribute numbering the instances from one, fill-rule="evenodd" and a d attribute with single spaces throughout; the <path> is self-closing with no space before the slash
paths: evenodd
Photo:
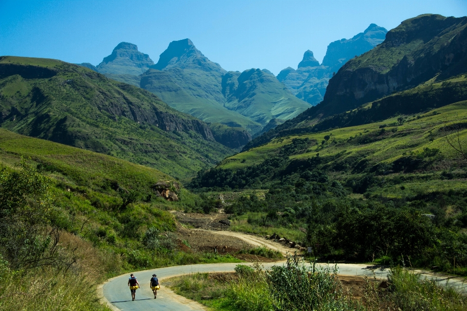
<path id="1" fill-rule="evenodd" d="M 351 39 L 341 39 L 327 47 L 323 64 L 314 58 L 313 52 L 306 51 L 297 69 L 287 67 L 277 79 L 298 98 L 316 105 L 323 101 L 329 79 L 349 59 L 368 52 L 383 42 L 387 30 L 371 24 L 363 33 Z"/>

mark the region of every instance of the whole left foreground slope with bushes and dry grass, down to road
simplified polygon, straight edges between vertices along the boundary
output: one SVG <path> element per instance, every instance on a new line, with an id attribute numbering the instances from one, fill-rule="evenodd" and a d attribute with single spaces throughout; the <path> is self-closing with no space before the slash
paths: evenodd
<path id="1" fill-rule="evenodd" d="M 160 171 L 1 129 L 0 309 L 104 310 L 110 276 L 238 261 L 176 235 L 167 210 L 204 205 Z"/>

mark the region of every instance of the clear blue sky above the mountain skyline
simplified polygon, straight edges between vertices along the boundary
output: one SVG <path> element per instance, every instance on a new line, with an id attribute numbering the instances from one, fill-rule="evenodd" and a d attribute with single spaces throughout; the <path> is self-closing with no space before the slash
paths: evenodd
<path id="1" fill-rule="evenodd" d="M 156 63 L 190 38 L 226 70 L 278 74 L 308 49 L 321 62 L 332 41 L 425 13 L 467 16 L 467 0 L 0 0 L 0 55 L 97 65 L 126 41 Z"/>

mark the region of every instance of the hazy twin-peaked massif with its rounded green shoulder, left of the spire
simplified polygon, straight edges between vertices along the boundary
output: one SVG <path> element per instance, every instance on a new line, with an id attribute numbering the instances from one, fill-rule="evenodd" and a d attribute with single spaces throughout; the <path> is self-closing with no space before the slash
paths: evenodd
<path id="1" fill-rule="evenodd" d="M 271 119 L 281 123 L 309 107 L 292 96 L 267 69 L 255 69 L 267 78 L 245 73 L 243 76 L 253 80 L 243 81 L 235 95 L 227 98 L 222 84 L 229 73 L 204 56 L 190 39 L 171 42 L 157 64 L 151 62 L 136 45 L 122 42 L 97 70 L 117 81 L 147 89 L 181 112 L 209 123 L 242 127 L 250 135 L 260 133 Z M 262 83 L 265 85 L 261 86 Z M 251 88 L 242 90 L 246 85 Z M 255 90 L 259 93 L 253 94 Z M 269 126 L 273 124 L 276 123 Z M 225 133 L 237 135 L 237 132 L 236 129 L 224 131 L 223 137 Z M 233 141 L 242 139 L 235 136 Z"/>

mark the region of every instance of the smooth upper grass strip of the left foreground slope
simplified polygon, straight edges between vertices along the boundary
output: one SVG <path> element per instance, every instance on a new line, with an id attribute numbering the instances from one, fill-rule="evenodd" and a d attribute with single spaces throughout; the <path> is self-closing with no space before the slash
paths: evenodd
<path id="1" fill-rule="evenodd" d="M 18 156 L 31 158 L 66 180 L 94 190 L 104 186 L 106 180 L 121 180 L 122 187 L 141 191 L 150 190 L 161 180 L 174 181 L 173 177 L 143 165 L 5 129 L 0 129 L 0 155 L 8 165 L 18 162 Z"/>

